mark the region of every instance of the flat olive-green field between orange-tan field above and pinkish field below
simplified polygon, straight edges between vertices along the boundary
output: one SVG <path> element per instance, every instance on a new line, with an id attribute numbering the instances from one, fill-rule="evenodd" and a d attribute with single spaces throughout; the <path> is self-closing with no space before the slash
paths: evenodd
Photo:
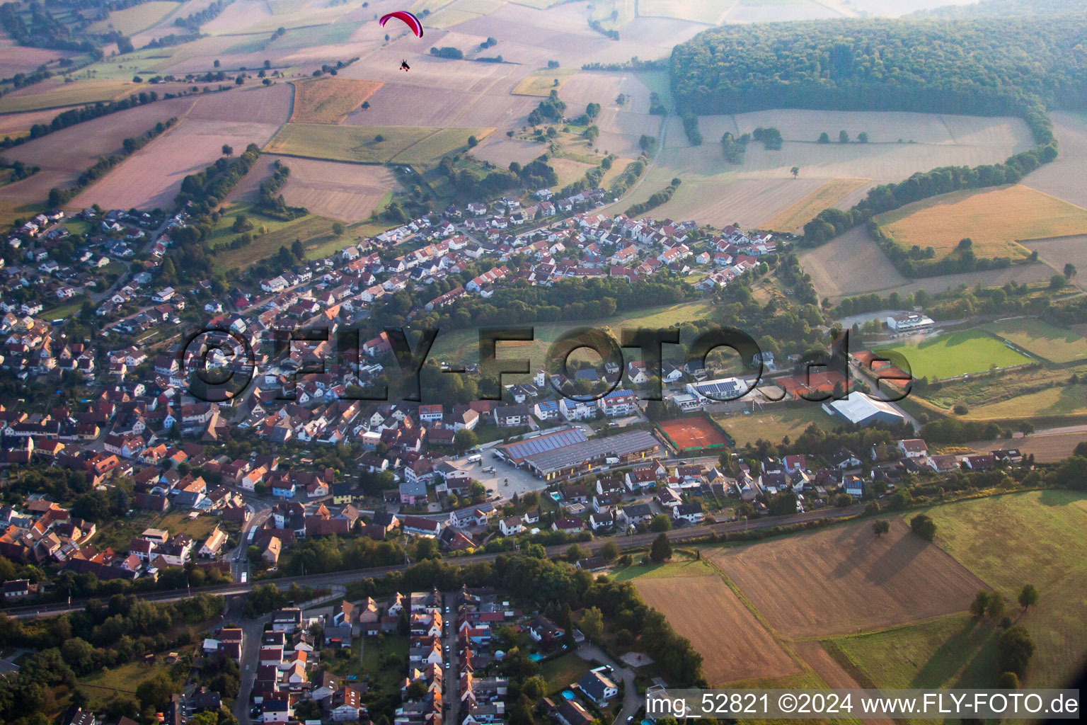
<path id="1" fill-rule="evenodd" d="M 467 148 L 468 136 L 483 139 L 493 130 L 290 123 L 268 141 L 264 151 L 364 164 L 384 164 L 390 161 L 425 164 Z M 382 138 L 380 141 L 377 140 L 378 137 Z"/>

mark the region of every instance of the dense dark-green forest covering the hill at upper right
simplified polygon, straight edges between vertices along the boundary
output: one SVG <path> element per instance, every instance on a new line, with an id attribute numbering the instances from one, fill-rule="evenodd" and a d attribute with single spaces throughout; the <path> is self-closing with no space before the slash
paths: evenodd
<path id="1" fill-rule="evenodd" d="M 1087 11 L 1061 16 L 726 25 L 676 46 L 677 108 L 1019 115 L 1046 146 L 1045 108 L 1083 108 Z"/>

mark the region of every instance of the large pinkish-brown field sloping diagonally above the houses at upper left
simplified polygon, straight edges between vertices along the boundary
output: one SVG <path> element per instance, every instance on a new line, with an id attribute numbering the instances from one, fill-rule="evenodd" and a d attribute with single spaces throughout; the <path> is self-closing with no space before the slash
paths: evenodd
<path id="1" fill-rule="evenodd" d="M 71 203 L 73 207 L 98 203 L 105 209 L 168 209 L 182 180 L 220 158 L 224 143 L 240 153 L 249 143 L 264 145 L 275 132 L 272 124 L 185 118 Z"/>

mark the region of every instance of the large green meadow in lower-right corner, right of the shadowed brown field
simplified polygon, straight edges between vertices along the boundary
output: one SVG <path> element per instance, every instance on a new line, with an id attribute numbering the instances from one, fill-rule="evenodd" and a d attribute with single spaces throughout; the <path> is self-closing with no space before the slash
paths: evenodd
<path id="1" fill-rule="evenodd" d="M 1001 592 L 1009 615 L 1030 632 L 1035 655 L 1027 684 L 1066 682 L 1087 652 L 1087 495 L 1027 491 L 925 513 L 936 522 L 936 543 Z M 1015 599 L 1026 584 L 1040 597 L 1022 614 Z"/>

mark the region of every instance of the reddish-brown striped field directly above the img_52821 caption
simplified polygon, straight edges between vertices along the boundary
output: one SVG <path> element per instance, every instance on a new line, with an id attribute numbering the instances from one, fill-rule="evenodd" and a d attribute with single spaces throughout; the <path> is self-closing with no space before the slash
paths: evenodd
<path id="1" fill-rule="evenodd" d="M 710 686 L 795 675 L 800 667 L 716 576 L 639 577 L 641 599 L 702 655 Z"/>

